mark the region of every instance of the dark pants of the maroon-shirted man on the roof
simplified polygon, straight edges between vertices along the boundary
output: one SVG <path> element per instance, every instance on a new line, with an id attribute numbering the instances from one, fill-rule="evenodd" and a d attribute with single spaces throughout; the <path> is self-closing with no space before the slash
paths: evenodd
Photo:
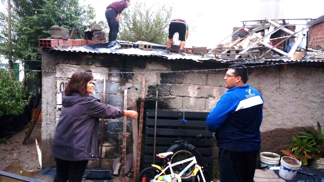
<path id="1" fill-rule="evenodd" d="M 108 40 L 113 41 L 117 39 L 117 34 L 119 32 L 119 21 L 116 21 L 117 13 L 115 10 L 107 9 L 105 16 L 109 26 Z"/>

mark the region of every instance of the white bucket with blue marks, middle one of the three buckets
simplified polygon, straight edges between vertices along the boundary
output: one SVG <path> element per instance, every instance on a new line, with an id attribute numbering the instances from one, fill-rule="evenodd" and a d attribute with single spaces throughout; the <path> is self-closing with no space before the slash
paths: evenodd
<path id="1" fill-rule="evenodd" d="M 289 158 L 294 160 L 298 165 L 291 165 L 284 161 Z M 297 170 L 300 168 L 301 162 L 295 158 L 288 157 L 288 156 L 282 157 L 280 162 L 281 165 L 279 169 L 279 175 L 284 179 L 288 179 L 288 180 L 294 179 L 297 174 Z"/>

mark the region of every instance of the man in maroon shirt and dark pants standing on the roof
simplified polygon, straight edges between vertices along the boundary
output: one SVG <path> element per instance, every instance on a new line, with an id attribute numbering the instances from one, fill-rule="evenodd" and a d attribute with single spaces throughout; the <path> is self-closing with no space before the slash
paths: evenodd
<path id="1" fill-rule="evenodd" d="M 130 0 L 122 0 L 113 2 L 109 6 L 107 6 L 105 16 L 109 26 L 109 41 L 117 39 L 117 34 L 119 32 L 119 18 L 121 16 L 121 12 L 129 5 L 131 5 Z"/>

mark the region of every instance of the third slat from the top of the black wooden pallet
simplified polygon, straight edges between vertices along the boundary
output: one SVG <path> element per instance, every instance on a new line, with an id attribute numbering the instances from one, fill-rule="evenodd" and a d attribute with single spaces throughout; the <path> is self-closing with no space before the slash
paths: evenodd
<path id="1" fill-rule="evenodd" d="M 146 128 L 145 134 L 154 134 L 154 128 Z M 213 133 L 207 130 L 177 130 L 177 129 L 156 129 L 156 135 L 192 136 L 202 134 L 202 137 L 211 137 Z"/>

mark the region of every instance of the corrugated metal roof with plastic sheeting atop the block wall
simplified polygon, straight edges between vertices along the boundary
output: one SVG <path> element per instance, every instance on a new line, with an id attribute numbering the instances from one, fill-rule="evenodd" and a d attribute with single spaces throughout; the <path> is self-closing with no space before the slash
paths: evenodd
<path id="1" fill-rule="evenodd" d="M 133 43 L 133 42 L 121 42 L 121 43 Z M 138 47 L 138 43 L 145 43 L 145 44 L 152 44 L 148 42 L 138 41 L 133 43 L 133 47 Z M 176 60 L 176 59 L 184 59 L 184 60 L 192 60 L 195 62 L 214 62 L 214 63 L 243 63 L 243 64 L 258 64 L 258 63 L 284 63 L 284 62 L 295 62 L 298 60 L 290 60 L 290 59 L 215 59 L 211 57 L 202 57 L 201 55 L 194 55 L 194 54 L 186 54 L 185 56 L 177 54 L 177 53 L 166 53 L 164 50 L 166 46 L 152 44 L 152 51 L 143 51 L 137 48 L 129 48 L 123 49 L 119 45 L 119 43 L 111 44 L 111 43 L 104 43 L 104 44 L 90 44 L 81 47 L 57 47 L 51 48 L 52 50 L 57 51 L 68 51 L 68 52 L 87 52 L 87 53 L 108 53 L 108 54 L 120 54 L 120 55 L 128 55 L 128 56 L 147 56 L 147 57 L 163 57 L 168 60 Z M 316 60 L 308 60 L 308 61 L 316 61 Z M 319 61 L 322 62 L 322 61 Z"/>

